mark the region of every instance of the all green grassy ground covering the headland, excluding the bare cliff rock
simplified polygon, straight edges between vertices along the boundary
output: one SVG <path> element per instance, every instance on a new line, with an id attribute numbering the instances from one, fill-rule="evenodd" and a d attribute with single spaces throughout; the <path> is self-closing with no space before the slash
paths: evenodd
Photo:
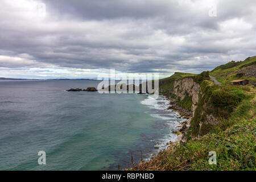
<path id="1" fill-rule="evenodd" d="M 230 72 L 255 64 L 256 57 L 241 62 L 230 62 L 217 67 L 210 75 L 219 81 L 234 80 Z M 232 68 L 231 68 L 232 67 Z M 229 73 L 229 74 L 227 74 Z M 193 77 L 201 86 L 202 93 L 195 117 L 191 121 L 188 138 L 183 145 L 171 145 L 150 162 L 140 163 L 134 170 L 255 170 L 256 154 L 256 89 L 254 86 L 214 85 L 202 80 L 204 74 L 176 73 L 159 81 L 160 89 L 168 94 L 174 81 Z M 167 90 L 167 91 L 166 91 Z M 218 125 L 203 125 L 199 133 L 199 122 L 205 114 L 213 114 L 221 122 Z M 208 163 L 209 151 L 216 151 L 217 165 Z"/>

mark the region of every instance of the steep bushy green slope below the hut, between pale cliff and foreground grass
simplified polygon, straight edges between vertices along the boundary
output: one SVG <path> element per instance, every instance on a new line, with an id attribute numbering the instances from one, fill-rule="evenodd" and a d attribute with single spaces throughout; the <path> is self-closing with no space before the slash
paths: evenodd
<path id="1" fill-rule="evenodd" d="M 245 112 L 247 107 L 251 107 L 249 101 L 255 97 L 254 86 L 213 85 L 208 80 L 203 81 L 200 86 L 202 93 L 191 119 L 190 133 L 193 137 L 225 130 L 230 126 L 229 118 L 237 114 L 235 111 L 242 108 L 241 112 Z M 215 118 L 214 123 L 208 122 L 210 115 Z"/>

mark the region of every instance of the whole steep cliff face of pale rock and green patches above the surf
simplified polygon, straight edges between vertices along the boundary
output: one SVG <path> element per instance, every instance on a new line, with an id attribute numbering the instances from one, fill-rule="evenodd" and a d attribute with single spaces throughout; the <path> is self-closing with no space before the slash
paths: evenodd
<path id="1" fill-rule="evenodd" d="M 177 73 L 182 74 L 182 73 Z M 186 142 L 188 138 L 199 138 L 207 134 L 212 128 L 220 123 L 217 117 L 218 112 L 213 112 L 215 106 L 212 103 L 210 89 L 214 86 L 212 81 L 209 81 L 209 72 L 203 72 L 196 76 L 185 76 L 177 78 L 169 83 L 167 89 L 160 88 L 160 93 L 164 93 L 174 100 L 170 107 L 180 111 L 181 115 L 189 112 L 192 118 L 180 129 L 183 133 L 182 141 Z"/>

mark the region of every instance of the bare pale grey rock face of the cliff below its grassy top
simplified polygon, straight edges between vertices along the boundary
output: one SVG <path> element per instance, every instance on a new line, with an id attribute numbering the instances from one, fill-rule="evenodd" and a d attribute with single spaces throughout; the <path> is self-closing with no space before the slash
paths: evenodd
<path id="1" fill-rule="evenodd" d="M 179 97 L 181 101 L 184 100 L 186 96 L 192 96 L 191 110 L 193 115 L 199 101 L 200 91 L 200 85 L 197 84 L 193 78 L 183 78 L 174 82 L 174 94 L 176 97 Z"/>

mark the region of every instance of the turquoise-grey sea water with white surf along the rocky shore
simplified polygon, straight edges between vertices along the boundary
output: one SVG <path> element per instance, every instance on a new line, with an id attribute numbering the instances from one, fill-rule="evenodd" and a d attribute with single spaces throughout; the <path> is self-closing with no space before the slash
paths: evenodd
<path id="1" fill-rule="evenodd" d="M 117 170 L 176 139 L 183 120 L 163 96 L 64 91 L 97 84 L 0 81 L 0 170 Z"/>

